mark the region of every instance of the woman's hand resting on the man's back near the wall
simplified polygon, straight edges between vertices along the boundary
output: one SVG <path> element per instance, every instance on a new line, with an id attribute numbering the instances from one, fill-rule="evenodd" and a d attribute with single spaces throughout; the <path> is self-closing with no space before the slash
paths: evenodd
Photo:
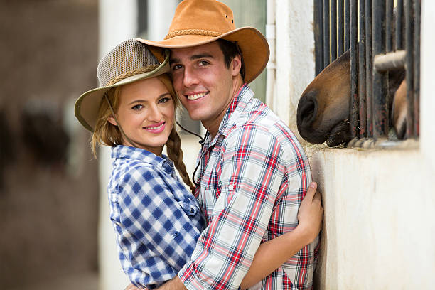
<path id="1" fill-rule="evenodd" d="M 299 207 L 299 230 L 304 232 L 307 244 L 313 242 L 323 224 L 323 206 L 321 194 L 316 191 L 317 183 L 312 182 Z"/>

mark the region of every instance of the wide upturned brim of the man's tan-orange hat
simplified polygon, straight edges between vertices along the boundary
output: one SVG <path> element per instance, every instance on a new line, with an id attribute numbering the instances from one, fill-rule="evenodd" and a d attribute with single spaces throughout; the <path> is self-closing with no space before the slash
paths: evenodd
<path id="1" fill-rule="evenodd" d="M 149 41 L 142 38 L 136 38 L 141 43 L 149 45 L 149 50 L 157 60 L 163 60 L 162 48 L 190 48 L 193 46 L 208 44 L 218 39 L 237 42 L 242 51 L 245 62 L 245 82 L 252 82 L 266 68 L 269 60 L 269 45 L 266 38 L 253 27 L 237 28 L 233 31 L 223 33 L 220 36 L 203 36 L 203 35 L 180 35 L 163 41 Z"/>

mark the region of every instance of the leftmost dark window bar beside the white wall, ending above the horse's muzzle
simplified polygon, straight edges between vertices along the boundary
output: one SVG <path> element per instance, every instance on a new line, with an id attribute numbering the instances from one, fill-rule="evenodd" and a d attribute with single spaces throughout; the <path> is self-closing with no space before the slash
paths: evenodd
<path id="1" fill-rule="evenodd" d="M 314 0 L 314 51 L 316 75 L 323 70 L 323 0 Z"/>

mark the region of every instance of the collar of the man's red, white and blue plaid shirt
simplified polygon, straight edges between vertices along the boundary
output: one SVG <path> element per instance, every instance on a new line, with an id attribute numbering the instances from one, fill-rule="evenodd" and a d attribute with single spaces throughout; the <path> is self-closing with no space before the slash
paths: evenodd
<path id="1" fill-rule="evenodd" d="M 230 107 L 228 107 L 227 112 L 225 112 L 225 115 L 220 122 L 218 133 L 213 140 L 210 139 L 210 133 L 207 132 L 206 143 L 208 143 L 208 146 L 213 146 L 216 141 L 218 141 L 220 135 L 227 136 L 228 132 L 235 124 L 235 120 L 237 120 L 243 112 L 252 97 L 254 97 L 254 91 L 252 91 L 247 83 L 245 83 L 245 85 L 240 87 L 240 90 L 232 99 Z"/>

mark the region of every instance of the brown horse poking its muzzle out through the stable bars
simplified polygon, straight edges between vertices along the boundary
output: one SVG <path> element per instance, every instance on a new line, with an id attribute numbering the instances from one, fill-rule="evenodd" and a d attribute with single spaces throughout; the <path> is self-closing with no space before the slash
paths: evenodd
<path id="1" fill-rule="evenodd" d="M 405 70 L 389 73 L 389 108 L 394 108 L 390 121 L 398 139 L 406 131 L 406 82 Z M 397 90 L 401 84 L 400 90 Z M 299 134 L 313 144 L 330 147 L 347 144 L 350 130 L 350 50 L 333 61 L 306 87 L 299 99 L 296 124 Z"/>

